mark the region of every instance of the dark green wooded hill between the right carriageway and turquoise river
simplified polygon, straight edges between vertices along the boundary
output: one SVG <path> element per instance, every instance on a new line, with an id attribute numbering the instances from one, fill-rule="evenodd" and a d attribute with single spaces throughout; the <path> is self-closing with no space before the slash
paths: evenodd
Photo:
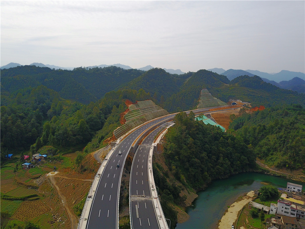
<path id="1" fill-rule="evenodd" d="M 256 156 L 241 137 L 195 121 L 194 115 L 187 117 L 184 112 L 174 122 L 165 136 L 164 151 L 168 167 L 182 183 L 200 190 L 213 179 L 255 167 Z"/>

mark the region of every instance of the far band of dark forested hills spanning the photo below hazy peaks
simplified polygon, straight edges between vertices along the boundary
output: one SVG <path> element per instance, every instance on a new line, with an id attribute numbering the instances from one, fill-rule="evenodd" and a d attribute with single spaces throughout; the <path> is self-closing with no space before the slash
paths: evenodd
<path id="1" fill-rule="evenodd" d="M 73 71 L 67 71 L 20 66 L 1 70 L 1 93 L 16 95 L 19 89 L 29 86 L 35 88 L 38 85 L 45 85 L 57 91 L 64 99 L 85 104 L 97 101 L 114 89 L 142 88 L 170 112 L 196 107 L 203 87 L 225 102 L 229 99 L 241 99 L 264 106 L 276 103 L 304 103 L 303 94 L 281 90 L 263 82 L 261 78 L 242 76 L 229 82 L 224 75 L 207 70 L 182 75 L 169 74 L 160 68 L 147 72 L 118 67 L 75 68 Z"/>

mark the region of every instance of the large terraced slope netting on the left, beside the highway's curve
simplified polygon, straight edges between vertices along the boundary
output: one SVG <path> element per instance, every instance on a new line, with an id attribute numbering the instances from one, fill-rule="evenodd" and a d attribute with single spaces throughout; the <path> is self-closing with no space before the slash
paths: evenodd
<path id="1" fill-rule="evenodd" d="M 144 122 L 169 114 L 162 107 L 152 102 L 152 100 L 138 101 L 136 104 L 131 104 L 128 108 L 128 113 L 124 115 L 124 118 L 126 119 L 125 124 L 121 125 L 113 132 L 116 138 L 119 138 L 129 130 Z"/>

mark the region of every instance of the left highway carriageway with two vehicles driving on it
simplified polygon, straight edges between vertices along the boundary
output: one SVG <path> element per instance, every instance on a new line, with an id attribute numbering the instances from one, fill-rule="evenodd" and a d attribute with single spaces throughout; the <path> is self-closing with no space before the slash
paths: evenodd
<path id="1" fill-rule="evenodd" d="M 201 113 L 208 111 L 209 109 L 194 110 L 194 113 Z M 188 114 L 189 111 L 186 111 Z M 90 208 L 86 228 L 98 229 L 98 228 L 118 228 L 119 227 L 119 193 L 120 193 L 120 181 L 123 172 L 123 167 L 127 154 L 129 153 L 132 143 L 140 136 L 146 129 L 155 125 L 156 127 L 161 125 L 162 121 L 170 121 L 174 118 L 175 114 L 167 115 L 165 117 L 156 119 L 145 125 L 142 125 L 138 129 L 131 132 L 126 136 L 121 143 L 117 146 L 103 170 L 99 179 L 98 187 L 93 193 L 93 203 Z M 121 154 L 119 154 L 121 151 Z M 143 156 L 143 154 L 142 154 Z M 145 156 L 144 156 L 145 157 Z M 144 158 L 143 157 L 143 158 Z M 135 159 L 134 159 L 135 160 Z M 143 159 L 142 159 L 143 160 Z M 143 161 L 144 162 L 144 161 Z M 117 167 L 117 164 L 120 164 Z M 144 167 L 143 167 L 144 169 Z M 146 170 L 147 163 L 146 163 Z M 146 172 L 147 172 L 146 171 Z M 142 175 L 142 172 L 141 172 Z M 137 182 L 137 181 L 136 181 Z M 148 183 L 148 181 L 147 181 Z M 144 180 L 143 180 L 144 185 Z M 142 189 L 145 194 L 147 188 Z M 138 190 L 140 192 L 140 189 Z M 147 195 L 146 193 L 145 195 Z M 145 206 L 145 203 L 143 203 Z M 139 207 L 142 208 L 140 202 Z M 146 220 L 144 220 L 146 221 Z M 147 220 L 148 221 L 148 220 Z M 151 222 L 147 222 L 149 225 Z M 142 224 L 142 222 L 141 222 Z"/>

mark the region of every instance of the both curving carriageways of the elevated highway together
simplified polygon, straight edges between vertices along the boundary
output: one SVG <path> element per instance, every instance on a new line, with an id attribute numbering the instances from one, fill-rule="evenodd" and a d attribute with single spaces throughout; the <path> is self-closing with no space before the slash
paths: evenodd
<path id="1" fill-rule="evenodd" d="M 193 110 L 194 113 L 206 111 L 209 109 Z M 187 114 L 189 112 L 186 111 Z M 135 152 L 131 167 L 129 191 L 131 228 L 168 228 L 166 223 L 162 223 L 164 215 L 161 207 L 159 206 L 158 209 L 156 206 L 159 199 L 157 196 L 153 197 L 152 194 L 156 187 L 152 167 L 149 167 L 149 163 L 152 163 L 152 154 L 149 152 L 152 150 L 154 137 L 161 128 L 164 129 L 165 125 L 169 125 L 165 123 L 172 121 L 175 115 L 170 114 L 157 118 L 135 129 L 121 140 L 108 160 L 106 162 L 104 160 L 101 165 L 103 170 L 91 186 L 92 199 L 88 201 L 87 198 L 86 200 L 78 228 L 119 228 L 119 194 L 124 163 L 132 145 L 138 144 L 138 141 L 147 133 L 148 136 Z M 117 167 L 117 164 L 120 166 Z M 95 182 L 98 183 L 96 189 L 94 188 Z M 92 189 L 95 190 L 92 191 Z"/>

